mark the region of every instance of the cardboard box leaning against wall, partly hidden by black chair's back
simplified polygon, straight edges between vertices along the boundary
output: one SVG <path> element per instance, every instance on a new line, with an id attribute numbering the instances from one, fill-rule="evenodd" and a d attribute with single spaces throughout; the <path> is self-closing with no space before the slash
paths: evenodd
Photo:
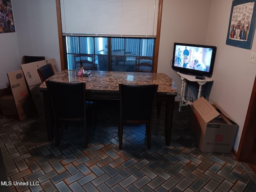
<path id="1" fill-rule="evenodd" d="M 44 114 L 44 102 L 42 92 L 39 90 L 39 86 L 42 82 L 38 75 L 37 69 L 48 63 L 52 64 L 54 73 L 58 72 L 58 66 L 54 58 L 21 65 L 24 76 L 26 78 L 26 82 L 28 84 L 28 88 L 32 94 L 32 98 L 39 115 Z"/>

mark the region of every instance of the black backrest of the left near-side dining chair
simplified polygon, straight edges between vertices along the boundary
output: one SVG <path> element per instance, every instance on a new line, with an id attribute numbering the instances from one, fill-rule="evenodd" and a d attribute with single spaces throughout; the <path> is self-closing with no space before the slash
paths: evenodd
<path id="1" fill-rule="evenodd" d="M 85 82 L 64 83 L 46 80 L 54 116 L 59 120 L 85 120 Z"/>

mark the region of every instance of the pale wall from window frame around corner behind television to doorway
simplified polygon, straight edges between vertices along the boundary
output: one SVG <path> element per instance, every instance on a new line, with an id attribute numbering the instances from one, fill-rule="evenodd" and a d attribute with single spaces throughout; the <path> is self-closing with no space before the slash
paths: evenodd
<path id="1" fill-rule="evenodd" d="M 181 80 L 170 66 L 173 43 L 217 46 L 210 98 L 239 125 L 237 151 L 256 75 L 256 64 L 249 62 L 256 40 L 252 50 L 226 45 L 231 7 L 232 0 L 164 0 L 158 72 L 168 74 L 180 93 Z"/>

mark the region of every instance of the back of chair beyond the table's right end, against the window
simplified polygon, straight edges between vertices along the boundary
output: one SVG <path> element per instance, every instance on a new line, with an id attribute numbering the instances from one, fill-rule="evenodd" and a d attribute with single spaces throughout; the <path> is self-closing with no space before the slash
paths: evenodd
<path id="1" fill-rule="evenodd" d="M 135 61 L 135 72 L 152 72 L 153 57 L 138 56 Z"/>

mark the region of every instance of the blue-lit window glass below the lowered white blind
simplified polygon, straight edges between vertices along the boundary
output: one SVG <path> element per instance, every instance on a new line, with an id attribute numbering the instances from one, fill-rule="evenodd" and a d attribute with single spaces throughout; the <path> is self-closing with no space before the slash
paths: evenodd
<path id="1" fill-rule="evenodd" d="M 134 71 L 136 56 L 153 58 L 154 38 L 66 36 L 66 52 L 69 70 L 82 60 L 86 70 Z"/>

